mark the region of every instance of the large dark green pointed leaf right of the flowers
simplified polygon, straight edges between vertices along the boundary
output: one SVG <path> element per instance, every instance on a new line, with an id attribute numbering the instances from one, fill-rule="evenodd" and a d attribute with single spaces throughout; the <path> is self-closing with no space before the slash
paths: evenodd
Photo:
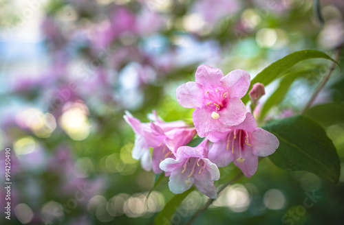
<path id="1" fill-rule="evenodd" d="M 269 156 L 277 167 L 310 171 L 338 182 L 340 162 L 336 148 L 318 123 L 299 115 L 272 121 L 264 129 L 279 139 L 279 148 Z"/>

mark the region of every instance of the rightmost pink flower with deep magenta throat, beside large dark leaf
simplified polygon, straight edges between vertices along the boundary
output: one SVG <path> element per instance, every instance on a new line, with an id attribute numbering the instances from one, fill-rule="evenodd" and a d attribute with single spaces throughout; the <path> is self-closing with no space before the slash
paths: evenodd
<path id="1" fill-rule="evenodd" d="M 208 158 L 218 167 L 226 167 L 234 161 L 247 177 L 257 171 L 258 156 L 268 156 L 279 147 L 277 137 L 258 128 L 255 117 L 250 112 L 247 112 L 244 122 L 233 126 L 229 132 L 209 139 L 215 143 Z"/>

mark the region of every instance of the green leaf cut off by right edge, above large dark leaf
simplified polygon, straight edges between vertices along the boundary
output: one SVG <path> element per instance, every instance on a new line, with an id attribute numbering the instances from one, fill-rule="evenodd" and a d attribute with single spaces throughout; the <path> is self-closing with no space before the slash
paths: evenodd
<path id="1" fill-rule="evenodd" d="M 323 126 L 344 123 L 344 105 L 328 103 L 314 106 L 305 112 L 305 115 L 314 119 Z"/>

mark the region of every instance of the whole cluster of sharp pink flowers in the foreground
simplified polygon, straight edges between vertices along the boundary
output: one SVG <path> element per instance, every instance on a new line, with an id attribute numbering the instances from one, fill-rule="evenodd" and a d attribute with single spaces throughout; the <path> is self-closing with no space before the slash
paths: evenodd
<path id="1" fill-rule="evenodd" d="M 261 85 L 256 86 L 261 89 Z M 125 120 L 136 133 L 133 158 L 141 159 L 146 170 L 153 167 L 155 173 L 164 171 L 170 176 L 173 193 L 182 193 L 194 184 L 209 198 L 217 198 L 214 181 L 219 180 L 218 167 L 232 161 L 246 177 L 253 176 L 258 157 L 274 153 L 279 140 L 258 128 L 241 102 L 249 86 L 250 74 L 242 69 L 224 76 L 220 69 L 200 65 L 195 82 L 182 84 L 176 91 L 181 106 L 195 108 L 195 128 L 182 121 L 166 123 L 156 112 L 154 121 L 140 123 L 127 112 Z M 196 147 L 186 146 L 196 131 L 204 140 Z"/>

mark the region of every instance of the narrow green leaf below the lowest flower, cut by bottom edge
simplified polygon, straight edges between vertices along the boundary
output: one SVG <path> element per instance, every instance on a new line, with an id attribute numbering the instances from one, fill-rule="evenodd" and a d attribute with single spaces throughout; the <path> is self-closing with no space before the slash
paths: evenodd
<path id="1" fill-rule="evenodd" d="M 191 193 L 191 191 L 194 189 L 194 187 L 191 187 L 191 189 L 185 191 L 184 193 L 173 196 L 173 198 L 164 206 L 164 209 L 162 209 L 162 211 L 155 217 L 154 224 L 171 224 L 171 218 L 176 209 L 178 209 L 178 206 L 182 203 L 186 196 L 189 196 L 189 193 Z"/>

